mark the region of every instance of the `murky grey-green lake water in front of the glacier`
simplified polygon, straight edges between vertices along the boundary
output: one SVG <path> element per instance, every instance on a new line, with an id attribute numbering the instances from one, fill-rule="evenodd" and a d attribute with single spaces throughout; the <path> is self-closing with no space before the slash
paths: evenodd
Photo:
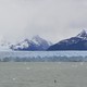
<path id="1" fill-rule="evenodd" d="M 0 63 L 0 87 L 87 87 L 87 63 Z"/>

